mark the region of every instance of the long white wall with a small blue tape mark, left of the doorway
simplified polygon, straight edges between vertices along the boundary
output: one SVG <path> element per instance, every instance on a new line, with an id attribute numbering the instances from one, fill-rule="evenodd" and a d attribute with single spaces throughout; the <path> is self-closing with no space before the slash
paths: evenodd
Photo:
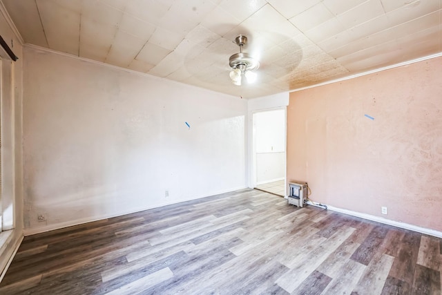
<path id="1" fill-rule="evenodd" d="M 27 234 L 245 187 L 247 101 L 24 53 Z"/>

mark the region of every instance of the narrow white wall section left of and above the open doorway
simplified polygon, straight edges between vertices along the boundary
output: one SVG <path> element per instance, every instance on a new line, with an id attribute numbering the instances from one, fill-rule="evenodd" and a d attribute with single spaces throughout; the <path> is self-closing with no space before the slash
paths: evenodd
<path id="1" fill-rule="evenodd" d="M 257 157 L 255 151 L 255 144 L 253 144 L 253 114 L 261 111 L 270 111 L 275 109 L 285 110 L 289 105 L 289 93 L 278 93 L 276 95 L 268 95 L 265 97 L 258 97 L 249 99 L 247 102 L 248 124 L 247 124 L 247 186 L 250 188 L 256 187 L 257 184 Z M 284 118 L 285 120 L 285 118 Z M 264 156 L 264 158 L 266 158 Z M 269 159 L 260 159 L 269 162 Z M 274 160 L 274 159 L 273 159 Z M 258 160 L 259 161 L 259 160 Z M 261 161 L 262 162 L 262 161 Z M 285 155 L 284 155 L 285 165 Z M 285 170 L 285 166 L 284 166 Z M 279 171 L 279 170 L 278 170 Z M 269 171 L 269 173 L 273 173 Z M 285 175 L 285 171 L 284 171 Z"/>

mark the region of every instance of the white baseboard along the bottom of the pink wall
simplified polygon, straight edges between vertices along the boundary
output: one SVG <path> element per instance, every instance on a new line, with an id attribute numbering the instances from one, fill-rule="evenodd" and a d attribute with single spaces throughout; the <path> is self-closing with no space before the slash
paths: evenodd
<path id="1" fill-rule="evenodd" d="M 387 218 L 374 216 L 374 215 L 370 215 L 367 213 L 361 213 L 361 212 L 356 212 L 356 211 L 352 211 L 352 210 L 341 209 L 341 208 L 337 208 L 337 207 L 333 207 L 333 206 L 329 206 L 329 205 L 321 204 L 322 206 L 320 206 L 319 204 L 315 204 L 311 201 L 307 202 L 307 204 L 311 204 L 315 207 L 319 207 L 319 208 L 323 208 L 323 209 L 324 209 L 323 206 L 325 206 L 326 209 L 328 209 L 330 211 L 335 211 L 335 212 L 343 213 L 343 214 L 346 214 L 349 216 L 354 216 L 354 217 L 358 217 L 358 218 L 376 221 L 379 223 L 383 223 L 384 225 L 392 225 L 393 227 L 399 227 L 401 229 L 408 229 L 410 231 L 416 231 L 421 234 L 435 236 L 436 238 L 442 238 L 442 231 L 436 231 L 435 229 L 427 229 L 425 227 L 418 227 L 417 225 L 410 225 L 409 223 L 405 223 L 405 222 L 390 220 Z"/>

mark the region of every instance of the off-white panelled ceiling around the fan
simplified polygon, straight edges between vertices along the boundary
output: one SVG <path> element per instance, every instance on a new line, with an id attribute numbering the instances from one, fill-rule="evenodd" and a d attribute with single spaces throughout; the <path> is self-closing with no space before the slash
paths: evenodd
<path id="1" fill-rule="evenodd" d="M 1 0 L 27 44 L 244 98 L 442 52 L 442 0 Z M 233 40 L 258 81 L 229 78 Z"/>

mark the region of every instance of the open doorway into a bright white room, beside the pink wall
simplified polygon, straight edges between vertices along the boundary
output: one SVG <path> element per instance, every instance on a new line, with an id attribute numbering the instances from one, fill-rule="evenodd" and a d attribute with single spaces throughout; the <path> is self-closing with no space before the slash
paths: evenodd
<path id="1" fill-rule="evenodd" d="M 255 188 L 286 196 L 285 108 L 253 113 Z"/>

